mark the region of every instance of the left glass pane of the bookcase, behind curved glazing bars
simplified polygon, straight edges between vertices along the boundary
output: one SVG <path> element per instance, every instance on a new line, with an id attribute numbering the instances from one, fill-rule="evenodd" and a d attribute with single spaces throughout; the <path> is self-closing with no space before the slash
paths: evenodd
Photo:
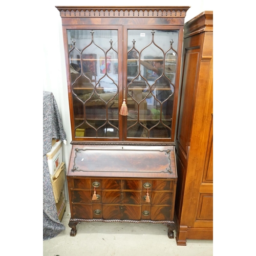
<path id="1" fill-rule="evenodd" d="M 68 30 L 76 137 L 119 137 L 117 39 L 117 30 Z"/>

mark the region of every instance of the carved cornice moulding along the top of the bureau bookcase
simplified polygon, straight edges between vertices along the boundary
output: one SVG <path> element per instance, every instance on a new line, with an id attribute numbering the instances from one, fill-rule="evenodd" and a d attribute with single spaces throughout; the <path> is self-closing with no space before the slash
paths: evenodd
<path id="1" fill-rule="evenodd" d="M 61 17 L 185 17 L 189 6 L 90 7 L 55 6 Z"/>

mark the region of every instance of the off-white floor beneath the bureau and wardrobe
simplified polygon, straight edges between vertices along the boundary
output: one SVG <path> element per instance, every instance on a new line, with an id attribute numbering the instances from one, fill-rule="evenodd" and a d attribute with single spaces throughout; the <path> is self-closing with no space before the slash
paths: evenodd
<path id="1" fill-rule="evenodd" d="M 70 236 L 69 204 L 62 218 L 66 226 L 57 237 L 43 241 L 44 256 L 212 256 L 212 240 L 187 240 L 177 246 L 167 236 L 168 228 L 152 223 L 81 222 Z"/>

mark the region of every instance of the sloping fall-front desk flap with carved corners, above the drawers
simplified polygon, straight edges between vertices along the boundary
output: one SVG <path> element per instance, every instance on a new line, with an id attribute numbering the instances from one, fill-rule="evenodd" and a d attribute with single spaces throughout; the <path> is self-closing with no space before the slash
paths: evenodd
<path id="1" fill-rule="evenodd" d="M 177 178 L 173 145 L 72 145 L 68 176 Z"/>

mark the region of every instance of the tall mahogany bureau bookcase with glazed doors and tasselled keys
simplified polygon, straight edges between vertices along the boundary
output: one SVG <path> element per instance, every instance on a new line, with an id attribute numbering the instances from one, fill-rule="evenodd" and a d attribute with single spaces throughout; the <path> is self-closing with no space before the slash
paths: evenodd
<path id="1" fill-rule="evenodd" d="M 166 225 L 174 238 L 174 135 L 189 7 L 56 8 L 72 131 L 70 235 L 80 222 L 148 222 Z"/>

